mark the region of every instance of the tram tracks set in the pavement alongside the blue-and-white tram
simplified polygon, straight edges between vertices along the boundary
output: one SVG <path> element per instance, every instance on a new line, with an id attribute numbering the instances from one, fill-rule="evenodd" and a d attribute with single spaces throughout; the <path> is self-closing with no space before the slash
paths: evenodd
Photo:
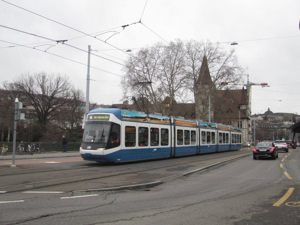
<path id="1" fill-rule="evenodd" d="M 237 152 L 232 152 L 232 154 L 230 154 L 230 152 L 227 152 L 225 155 L 225 157 L 237 157 L 238 155 L 245 155 L 245 154 L 236 154 Z M 217 157 L 216 157 L 217 156 Z M 151 164 L 151 165 L 144 165 L 142 164 L 140 167 L 134 167 L 134 168 L 127 168 L 126 172 L 124 172 L 124 169 L 120 169 L 120 170 L 114 170 L 114 171 L 107 171 L 107 170 L 101 170 L 101 167 L 103 169 L 107 169 L 107 167 L 104 165 L 99 166 L 99 164 L 93 166 L 89 166 L 89 167 L 84 167 L 84 168 L 78 168 L 78 166 L 74 166 L 77 168 L 60 168 L 60 169 L 56 169 L 56 168 L 52 168 L 52 169 L 56 169 L 56 170 L 44 170 L 44 169 L 35 169 L 35 170 L 28 170 L 28 171 L 34 171 L 34 172 L 26 172 L 26 173 L 19 173 L 19 174 L 6 174 L 6 175 L 1 175 L 0 174 L 0 178 L 2 176 L 24 176 L 24 174 L 27 175 L 31 175 L 32 173 L 37 174 L 40 173 L 41 175 L 43 175 L 43 173 L 51 173 L 51 172 L 64 172 L 64 171 L 72 171 L 72 173 L 76 173 L 76 174 L 82 174 L 79 176 L 64 176 L 62 178 L 59 179 L 48 179 L 48 180 L 38 180 L 36 179 L 36 176 L 33 178 L 32 182 L 24 182 L 24 180 L 22 181 L 22 183 L 15 183 L 12 185 L 1 185 L 3 187 L 0 187 L 0 191 L 4 190 L 4 189 L 10 189 L 5 193 L 13 193 L 13 192 L 24 192 L 24 191 L 32 191 L 32 190 L 37 190 L 37 189 L 41 189 L 41 188 L 48 188 L 48 187 L 57 187 L 57 186 L 63 186 L 63 185 L 68 185 L 68 184 L 79 184 L 80 182 L 87 182 L 87 181 L 96 181 L 99 180 L 104 180 L 104 179 L 109 179 L 109 178 L 113 178 L 113 177 L 124 177 L 126 175 L 139 175 L 142 173 L 149 173 L 150 171 L 154 171 L 154 170 L 158 170 L 158 169 L 166 169 L 166 168 L 171 168 L 171 167 L 180 167 L 180 166 L 184 166 L 187 164 L 193 164 L 193 163 L 197 163 L 197 164 L 201 164 L 202 161 L 207 161 L 207 160 L 219 160 L 224 158 L 224 154 L 213 154 L 213 155 L 206 155 L 205 158 L 177 158 L 179 159 L 179 161 L 171 161 L 170 159 L 168 159 L 168 161 L 165 160 L 158 160 L 158 161 L 151 161 L 151 162 L 155 162 L 155 164 Z M 169 161 L 170 160 L 170 161 Z M 149 162 L 149 161 L 148 161 Z M 167 163 L 166 163 L 167 162 Z M 139 162 L 140 163 L 140 162 Z M 167 165 L 166 165 L 167 164 Z M 112 164 L 110 164 L 111 166 Z M 116 164 L 115 164 L 116 165 Z M 137 163 L 131 163 L 131 164 L 118 164 L 118 165 L 137 165 Z M 116 165 L 117 166 L 117 165 Z M 49 167 L 48 167 L 49 168 Z M 84 173 L 88 173 L 91 171 L 91 169 L 95 169 L 98 168 L 99 170 L 95 170 L 93 171 L 93 174 L 84 174 Z M 37 170 L 43 170 L 43 171 L 37 171 Z M 78 170 L 78 171 L 76 171 Z M 17 172 L 17 171 L 15 171 Z M 105 175 L 103 174 L 102 176 L 99 176 L 99 174 L 103 174 L 106 173 Z M 108 173 L 108 174 L 107 174 Z M 3 180 L 3 179 L 1 179 Z M 121 180 L 121 178 L 120 178 Z M 2 182 L 1 182 L 2 183 Z M 26 187 L 26 186 L 33 186 L 33 187 Z M 74 190 L 74 189 L 73 189 Z M 68 192 L 68 191 L 67 191 Z M 4 194 L 4 193 L 1 193 Z"/>

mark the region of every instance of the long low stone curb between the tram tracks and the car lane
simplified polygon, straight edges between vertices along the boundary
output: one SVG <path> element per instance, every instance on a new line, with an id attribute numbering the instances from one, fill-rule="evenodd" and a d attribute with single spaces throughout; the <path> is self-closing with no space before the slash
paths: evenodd
<path id="1" fill-rule="evenodd" d="M 167 183 L 167 182 L 170 182 L 170 181 L 182 178 L 184 176 L 188 176 L 190 174 L 197 173 L 197 172 L 199 172 L 201 170 L 205 170 L 205 169 L 208 169 L 210 167 L 214 167 L 214 166 L 217 166 L 219 164 L 226 163 L 226 162 L 235 160 L 237 158 L 242 158 L 242 157 L 249 156 L 249 155 L 252 155 L 252 154 L 253 153 L 249 153 L 247 155 L 242 155 L 242 156 L 237 156 L 235 158 L 227 159 L 227 160 L 224 160 L 224 161 L 221 161 L 221 162 L 218 162 L 218 163 L 214 163 L 214 164 L 208 165 L 206 167 L 201 167 L 199 169 L 192 170 L 192 171 L 189 171 L 187 173 L 183 173 L 183 174 L 179 174 L 179 175 L 167 176 L 167 177 L 165 177 L 163 179 L 160 179 L 159 181 L 154 181 L 154 182 L 150 182 L 150 183 L 134 184 L 134 185 L 121 186 L 121 187 L 106 187 L 106 188 L 98 188 L 98 189 L 73 190 L 72 192 L 116 191 L 116 190 L 130 190 L 130 189 L 138 189 L 138 188 L 145 188 L 145 187 L 153 187 L 153 186 L 156 186 L 156 185 L 159 185 L 159 184 L 162 184 L 162 183 Z"/>

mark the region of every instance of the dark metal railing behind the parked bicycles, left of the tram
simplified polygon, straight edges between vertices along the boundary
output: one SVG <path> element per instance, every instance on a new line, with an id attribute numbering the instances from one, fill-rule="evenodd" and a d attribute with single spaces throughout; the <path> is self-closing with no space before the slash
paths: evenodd
<path id="1" fill-rule="evenodd" d="M 0 146 L 2 146 L 3 144 L 8 146 L 8 151 L 7 153 L 12 153 L 13 152 L 13 143 L 12 142 L 0 142 Z M 19 144 L 23 144 L 24 149 L 27 149 L 27 142 L 16 142 L 16 149 L 17 146 Z M 35 145 L 39 145 L 41 144 L 42 148 L 45 149 L 45 153 L 46 152 L 63 152 L 63 146 L 61 142 L 30 142 L 30 144 L 35 144 Z M 74 152 L 74 151 L 78 151 L 79 152 L 79 147 L 81 145 L 81 142 L 68 142 L 67 144 L 67 152 Z"/>

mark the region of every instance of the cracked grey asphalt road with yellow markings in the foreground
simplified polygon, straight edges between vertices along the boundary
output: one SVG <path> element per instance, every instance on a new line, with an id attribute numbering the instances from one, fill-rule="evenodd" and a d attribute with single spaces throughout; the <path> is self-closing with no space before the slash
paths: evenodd
<path id="1" fill-rule="evenodd" d="M 98 166 L 101 171 L 106 171 L 104 173 L 141 170 L 144 167 L 148 169 L 149 177 L 160 174 L 158 172 L 170 175 L 167 182 L 141 189 L 4 193 L 0 195 L 1 224 L 298 224 L 298 148 L 289 153 L 279 152 L 277 160 L 253 160 L 249 155 L 188 176 L 179 176 L 182 171 L 205 167 L 208 161 L 214 164 L 211 156 L 223 155 L 218 161 L 226 160 L 229 153 L 204 155 L 204 158 L 208 157 L 204 161 L 195 161 L 197 156 L 193 156 L 175 161 L 123 164 L 118 168 Z M 245 150 L 245 153 L 249 151 Z M 85 163 L 76 161 L 72 162 L 72 166 L 82 166 L 81 162 Z M 64 164 L 64 167 L 69 167 L 70 161 Z M 150 170 L 162 164 L 164 169 Z M 86 166 L 83 169 L 85 173 L 94 173 L 97 168 L 93 163 L 83 165 Z M 58 166 L 54 169 L 57 170 Z M 172 176 L 177 179 L 171 179 Z M 136 180 L 131 182 L 141 180 L 136 176 Z M 64 189 L 64 185 L 53 187 Z M 88 182 L 85 182 L 87 185 Z"/>

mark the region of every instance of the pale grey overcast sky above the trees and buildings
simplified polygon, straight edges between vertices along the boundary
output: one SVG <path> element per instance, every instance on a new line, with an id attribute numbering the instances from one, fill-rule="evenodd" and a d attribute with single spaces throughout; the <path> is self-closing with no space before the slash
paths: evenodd
<path id="1" fill-rule="evenodd" d="M 90 101 L 121 103 L 128 53 L 118 49 L 209 39 L 227 51 L 235 48 L 250 82 L 270 86 L 252 86 L 252 114 L 269 107 L 300 115 L 299 9 L 299 0 L 0 0 L 1 86 L 22 73 L 44 71 L 69 76 L 85 93 L 91 45 Z M 69 46 L 51 40 L 68 40 Z"/>

